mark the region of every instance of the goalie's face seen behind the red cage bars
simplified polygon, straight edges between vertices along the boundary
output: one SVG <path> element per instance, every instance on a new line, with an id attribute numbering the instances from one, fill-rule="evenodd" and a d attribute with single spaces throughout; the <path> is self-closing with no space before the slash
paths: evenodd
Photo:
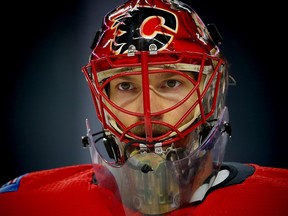
<path id="1" fill-rule="evenodd" d="M 143 89 L 142 76 L 117 77 L 110 81 L 110 100 L 122 109 L 130 113 L 139 113 L 139 115 L 131 115 L 113 107 L 110 109 L 126 128 L 143 121 L 145 115 L 151 113 L 152 122 L 162 122 L 161 124 L 152 123 L 153 136 L 160 136 L 169 131 L 170 126 L 180 128 L 194 119 L 197 99 L 195 76 L 192 72 L 149 74 L 149 91 L 146 91 L 144 97 L 150 98 L 148 100 L 150 106 L 148 105 L 146 110 L 143 108 L 143 92 L 145 90 Z M 144 137 L 145 125 L 132 127 L 130 131 L 137 136 Z"/>

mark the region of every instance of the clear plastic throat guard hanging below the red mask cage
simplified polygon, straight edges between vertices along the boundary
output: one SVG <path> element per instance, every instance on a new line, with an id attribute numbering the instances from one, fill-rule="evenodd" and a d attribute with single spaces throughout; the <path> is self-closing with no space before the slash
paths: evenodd
<path id="1" fill-rule="evenodd" d="M 222 164 L 231 135 L 228 122 L 225 107 L 197 149 L 190 152 L 173 146 L 164 149 L 161 143 L 152 149 L 141 143 L 121 166 L 103 158 L 103 150 L 94 142 L 87 122 L 88 147 L 97 184 L 115 192 L 126 215 L 131 212 L 165 215 L 192 203 L 194 192 L 205 182 L 212 185 Z"/>

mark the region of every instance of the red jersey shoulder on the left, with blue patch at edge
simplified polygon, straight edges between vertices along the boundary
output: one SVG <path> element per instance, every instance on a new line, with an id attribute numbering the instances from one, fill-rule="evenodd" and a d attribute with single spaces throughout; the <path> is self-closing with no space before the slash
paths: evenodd
<path id="1" fill-rule="evenodd" d="M 89 216 L 93 212 L 103 216 L 124 215 L 114 192 L 93 184 L 93 173 L 90 164 L 20 176 L 2 186 L 0 215 Z M 17 186 L 9 189 L 14 183 Z"/>

